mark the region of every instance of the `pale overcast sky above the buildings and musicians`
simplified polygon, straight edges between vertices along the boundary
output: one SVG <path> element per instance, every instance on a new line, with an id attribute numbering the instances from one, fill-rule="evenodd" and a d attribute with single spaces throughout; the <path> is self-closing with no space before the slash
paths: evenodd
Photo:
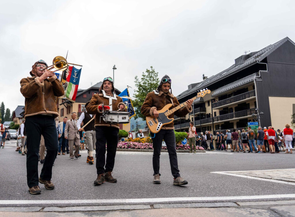
<path id="1" fill-rule="evenodd" d="M 178 95 L 246 50 L 295 41 L 295 1 L 141 2 L 1 1 L 0 102 L 24 105 L 19 81 L 32 64 L 67 50 L 68 62 L 83 65 L 80 89 L 113 76 L 114 64 L 115 87 L 135 89 L 134 77 L 153 66 Z"/>

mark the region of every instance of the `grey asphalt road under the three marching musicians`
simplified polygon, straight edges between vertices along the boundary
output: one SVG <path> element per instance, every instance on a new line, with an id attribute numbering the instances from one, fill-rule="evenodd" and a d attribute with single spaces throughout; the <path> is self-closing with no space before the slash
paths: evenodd
<path id="1" fill-rule="evenodd" d="M 7 141 L 0 150 L 0 200 L 74 200 L 114 198 L 219 197 L 294 194 L 294 185 L 214 174 L 216 171 L 295 168 L 295 154 L 179 154 L 180 174 L 186 186 L 173 186 L 169 156 L 160 158 L 160 185 L 153 184 L 152 155 L 117 154 L 114 177 L 117 183 L 94 186 L 95 164 L 86 164 L 87 154 L 70 160 L 60 155 L 55 160 L 52 181 L 54 190 L 30 195 L 26 179 L 26 156 L 15 151 L 16 141 Z M 214 151 L 215 152 L 215 151 Z M 216 151 L 218 152 L 218 151 Z M 42 164 L 39 163 L 39 174 Z"/>

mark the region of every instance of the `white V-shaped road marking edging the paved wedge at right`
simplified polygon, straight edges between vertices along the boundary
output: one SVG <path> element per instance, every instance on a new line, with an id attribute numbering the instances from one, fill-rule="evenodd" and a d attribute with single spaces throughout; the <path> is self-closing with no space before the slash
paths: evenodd
<path id="1" fill-rule="evenodd" d="M 294 170 L 294 169 L 243 170 L 243 171 L 223 171 L 223 172 L 210 172 L 210 173 L 230 175 L 230 176 L 236 176 L 236 177 L 242 177 L 242 178 L 248 178 L 248 179 L 255 179 L 255 180 L 261 180 L 261 181 L 267 181 L 267 182 L 276 182 L 276 183 L 287 184 L 287 185 L 295 185 L 295 182 L 287 182 L 287 181 L 282 181 L 282 180 L 273 180 L 273 179 L 260 178 L 260 177 L 254 177 L 254 176 L 248 176 L 248 175 L 241 175 L 241 174 L 232 173 L 232 172 L 258 172 L 258 171 L 276 171 L 276 170 Z"/>

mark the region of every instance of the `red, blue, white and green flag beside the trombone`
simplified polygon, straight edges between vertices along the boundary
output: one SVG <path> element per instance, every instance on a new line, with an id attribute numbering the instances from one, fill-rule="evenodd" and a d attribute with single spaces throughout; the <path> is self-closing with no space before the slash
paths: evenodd
<path id="1" fill-rule="evenodd" d="M 76 101 L 80 75 L 81 75 L 81 68 L 77 69 L 74 66 L 69 66 L 63 72 L 63 78 L 61 80 L 61 83 L 65 91 L 64 97 L 70 100 L 71 102 Z"/>

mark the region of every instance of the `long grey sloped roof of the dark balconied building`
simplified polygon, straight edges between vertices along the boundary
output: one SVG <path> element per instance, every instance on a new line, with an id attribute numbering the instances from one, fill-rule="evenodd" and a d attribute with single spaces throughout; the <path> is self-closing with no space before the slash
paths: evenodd
<path id="1" fill-rule="evenodd" d="M 219 72 L 218 74 L 211 76 L 207 78 L 206 80 L 200 82 L 200 84 L 197 85 L 196 87 L 193 87 L 192 89 L 182 92 L 181 94 L 177 96 L 177 99 L 181 99 L 182 97 L 185 97 L 193 92 L 196 92 L 196 90 L 203 89 L 204 87 L 207 87 L 208 85 L 213 84 L 214 82 L 219 81 L 220 79 L 225 78 L 229 76 L 230 74 L 234 74 L 235 72 L 241 70 L 242 68 L 245 68 L 246 66 L 250 66 L 251 64 L 257 61 L 258 62 L 262 61 L 264 58 L 266 58 L 266 56 L 268 56 L 270 53 L 272 53 L 274 50 L 276 50 L 280 45 L 282 45 L 286 41 L 290 41 L 295 46 L 295 43 L 292 40 L 290 40 L 288 37 L 286 37 L 274 43 L 273 45 L 269 45 L 259 50 L 256 54 L 254 54 L 253 56 L 245 60 L 245 62 L 241 63 L 240 65 L 235 66 L 235 64 L 233 64 L 232 66 L 223 70 L 222 72 Z"/>

